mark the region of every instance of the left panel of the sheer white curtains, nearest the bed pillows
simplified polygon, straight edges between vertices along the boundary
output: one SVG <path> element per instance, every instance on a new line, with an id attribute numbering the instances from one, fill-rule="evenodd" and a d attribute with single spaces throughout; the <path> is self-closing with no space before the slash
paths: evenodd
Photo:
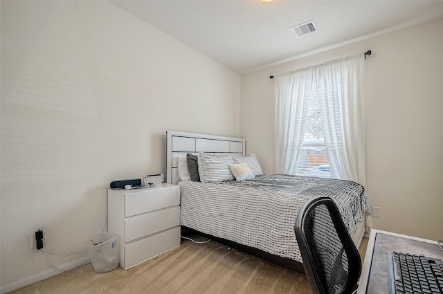
<path id="1" fill-rule="evenodd" d="M 295 174 L 305 136 L 314 71 L 301 69 L 275 78 L 275 172 Z"/>

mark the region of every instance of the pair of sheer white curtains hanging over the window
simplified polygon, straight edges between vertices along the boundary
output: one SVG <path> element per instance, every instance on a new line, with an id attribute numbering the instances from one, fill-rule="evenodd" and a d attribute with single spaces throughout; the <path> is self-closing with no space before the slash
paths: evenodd
<path id="1" fill-rule="evenodd" d="M 316 89 L 332 177 L 366 184 L 364 73 L 357 54 L 276 76 L 275 172 L 296 173 L 307 100 Z"/>

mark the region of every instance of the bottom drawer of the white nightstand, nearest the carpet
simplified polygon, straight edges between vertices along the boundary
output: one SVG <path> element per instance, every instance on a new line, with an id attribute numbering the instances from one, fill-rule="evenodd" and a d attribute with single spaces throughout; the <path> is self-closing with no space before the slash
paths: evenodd
<path id="1" fill-rule="evenodd" d="M 125 246 L 125 264 L 120 264 L 120 266 L 125 269 L 130 268 L 178 246 L 180 246 L 180 227 L 127 244 Z"/>

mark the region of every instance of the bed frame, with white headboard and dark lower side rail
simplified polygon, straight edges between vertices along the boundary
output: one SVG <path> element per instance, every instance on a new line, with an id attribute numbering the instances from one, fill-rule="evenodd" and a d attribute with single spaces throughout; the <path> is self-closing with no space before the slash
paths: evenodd
<path id="1" fill-rule="evenodd" d="M 233 156 L 245 155 L 245 140 L 242 138 L 230 138 L 223 136 L 212 136 L 204 134 L 192 134 L 183 133 L 180 131 L 167 131 L 166 132 L 166 182 L 177 184 L 179 182 L 179 175 L 177 172 L 177 156 L 186 156 L 186 154 L 198 154 L 198 151 L 204 151 L 210 154 L 232 154 Z M 193 230 L 192 228 L 186 228 L 182 226 L 182 230 L 188 230 L 196 232 L 199 235 L 213 239 L 221 244 L 230 246 L 237 250 L 242 250 L 248 254 L 260 257 L 267 261 L 271 261 L 285 268 L 296 270 L 300 273 L 305 273 L 303 264 L 299 261 L 272 255 L 269 252 L 253 248 L 250 246 L 244 246 L 236 242 L 221 239 L 212 235 L 207 235 L 202 232 Z M 356 233 L 352 236 L 352 240 L 359 248 L 363 235 L 365 234 L 365 219 L 358 224 Z"/>

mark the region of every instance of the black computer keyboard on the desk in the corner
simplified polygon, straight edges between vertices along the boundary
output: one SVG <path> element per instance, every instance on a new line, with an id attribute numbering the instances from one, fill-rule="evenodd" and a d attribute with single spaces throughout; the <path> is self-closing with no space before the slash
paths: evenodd
<path id="1" fill-rule="evenodd" d="M 389 254 L 390 294 L 443 293 L 443 260 L 404 252 Z"/>

